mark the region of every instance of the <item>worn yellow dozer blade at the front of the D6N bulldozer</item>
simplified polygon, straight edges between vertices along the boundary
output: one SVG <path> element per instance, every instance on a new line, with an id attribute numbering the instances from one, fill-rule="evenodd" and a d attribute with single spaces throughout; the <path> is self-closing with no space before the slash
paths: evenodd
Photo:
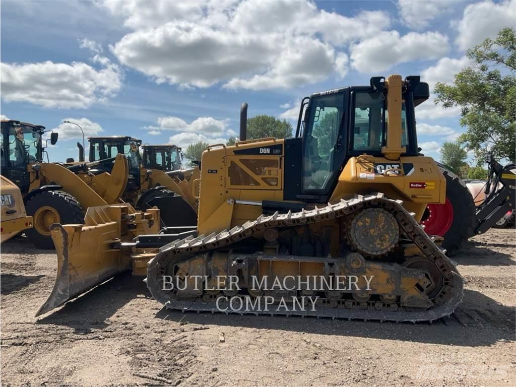
<path id="1" fill-rule="evenodd" d="M 57 252 L 57 278 L 36 316 L 131 269 L 131 257 L 119 244 L 159 232 L 159 209 L 136 211 L 130 204 L 89 207 L 85 224 L 51 225 Z"/>

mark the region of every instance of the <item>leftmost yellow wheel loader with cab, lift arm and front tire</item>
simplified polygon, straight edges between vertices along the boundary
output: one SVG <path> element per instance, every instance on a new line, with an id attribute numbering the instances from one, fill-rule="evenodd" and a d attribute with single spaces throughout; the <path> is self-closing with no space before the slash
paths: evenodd
<path id="1" fill-rule="evenodd" d="M 119 202 L 127 183 L 124 155 L 94 163 L 50 163 L 45 145 L 54 145 L 57 133 L 17 120 L 3 120 L 1 130 L 2 175 L 21 190 L 27 215 L 33 217 L 25 234 L 38 248 L 54 248 L 53 223 L 80 224 L 86 208 Z M 49 132 L 50 139 L 44 140 Z M 104 164 L 110 165 L 110 173 L 94 169 Z"/>

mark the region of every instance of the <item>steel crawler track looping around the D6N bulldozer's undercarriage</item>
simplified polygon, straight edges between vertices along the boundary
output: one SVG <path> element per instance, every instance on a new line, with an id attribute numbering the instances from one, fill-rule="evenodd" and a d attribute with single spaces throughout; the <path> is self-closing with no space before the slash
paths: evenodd
<path id="1" fill-rule="evenodd" d="M 268 314 L 268 315 L 299 315 L 344 318 L 344 319 L 361 319 L 361 320 L 378 320 L 378 321 L 395 321 L 395 322 L 418 322 L 418 321 L 434 321 L 439 318 L 449 316 L 454 312 L 457 305 L 462 300 L 463 295 L 463 279 L 459 275 L 455 265 L 448 259 L 444 251 L 441 250 L 418 224 L 412 214 L 402 206 L 401 200 L 392 200 L 385 198 L 383 193 L 373 193 L 372 195 L 357 195 L 350 200 L 341 200 L 338 203 L 328 203 L 324 207 L 315 207 L 314 209 L 300 212 L 288 212 L 273 215 L 261 215 L 256 220 L 247 221 L 242 225 L 236 226 L 231 230 L 224 230 L 219 233 L 210 235 L 199 235 L 197 237 L 187 237 L 185 239 L 176 240 L 172 243 L 160 248 L 159 252 L 149 262 L 147 270 L 147 287 L 152 296 L 163 303 L 167 309 L 200 312 L 221 312 L 216 305 L 216 297 L 209 299 L 197 298 L 195 300 L 178 300 L 174 298 L 174 293 L 164 291 L 162 289 L 163 275 L 166 274 L 168 265 L 174 265 L 186 262 L 199 254 L 214 251 L 217 249 L 228 249 L 228 247 L 237 241 L 250 237 L 256 232 L 263 231 L 268 228 L 287 228 L 295 227 L 303 224 L 310 224 L 318 221 L 334 219 L 341 216 L 350 215 L 370 206 L 381 207 L 390 212 L 399 224 L 400 230 L 425 254 L 426 259 L 432 261 L 439 267 L 444 285 L 441 293 L 434 298 L 434 306 L 427 310 L 408 310 L 406 308 L 393 308 L 389 304 L 379 305 L 377 302 L 367 303 L 367 307 L 362 308 L 346 308 L 345 302 L 340 302 L 337 308 L 329 306 L 327 300 L 323 300 L 316 306 L 315 310 L 310 311 L 286 311 L 280 312 L 256 312 L 250 314 Z M 348 303 L 349 304 L 349 303 Z M 228 313 L 228 312 L 226 312 Z M 231 312 L 244 314 L 246 312 Z"/>

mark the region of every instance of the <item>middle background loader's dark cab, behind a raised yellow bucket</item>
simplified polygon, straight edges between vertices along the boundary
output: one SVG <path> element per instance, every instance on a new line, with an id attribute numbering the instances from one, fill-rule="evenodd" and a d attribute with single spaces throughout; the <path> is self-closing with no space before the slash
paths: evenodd
<path id="1" fill-rule="evenodd" d="M 115 157 L 118 153 L 127 157 L 129 176 L 126 191 L 140 188 L 140 145 L 141 140 L 130 136 L 88 137 L 90 143 L 90 162 Z M 99 165 L 95 172 L 111 172 L 112 164 Z"/>

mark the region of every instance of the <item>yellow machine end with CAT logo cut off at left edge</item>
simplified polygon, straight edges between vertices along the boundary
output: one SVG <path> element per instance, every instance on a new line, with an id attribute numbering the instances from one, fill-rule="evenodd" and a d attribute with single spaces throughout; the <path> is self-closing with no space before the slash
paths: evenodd
<path id="1" fill-rule="evenodd" d="M 33 218 L 27 216 L 23 197 L 18 188 L 9 179 L 0 176 L 2 207 L 2 226 L 0 228 L 0 243 L 12 238 L 19 232 L 32 227 Z"/>

